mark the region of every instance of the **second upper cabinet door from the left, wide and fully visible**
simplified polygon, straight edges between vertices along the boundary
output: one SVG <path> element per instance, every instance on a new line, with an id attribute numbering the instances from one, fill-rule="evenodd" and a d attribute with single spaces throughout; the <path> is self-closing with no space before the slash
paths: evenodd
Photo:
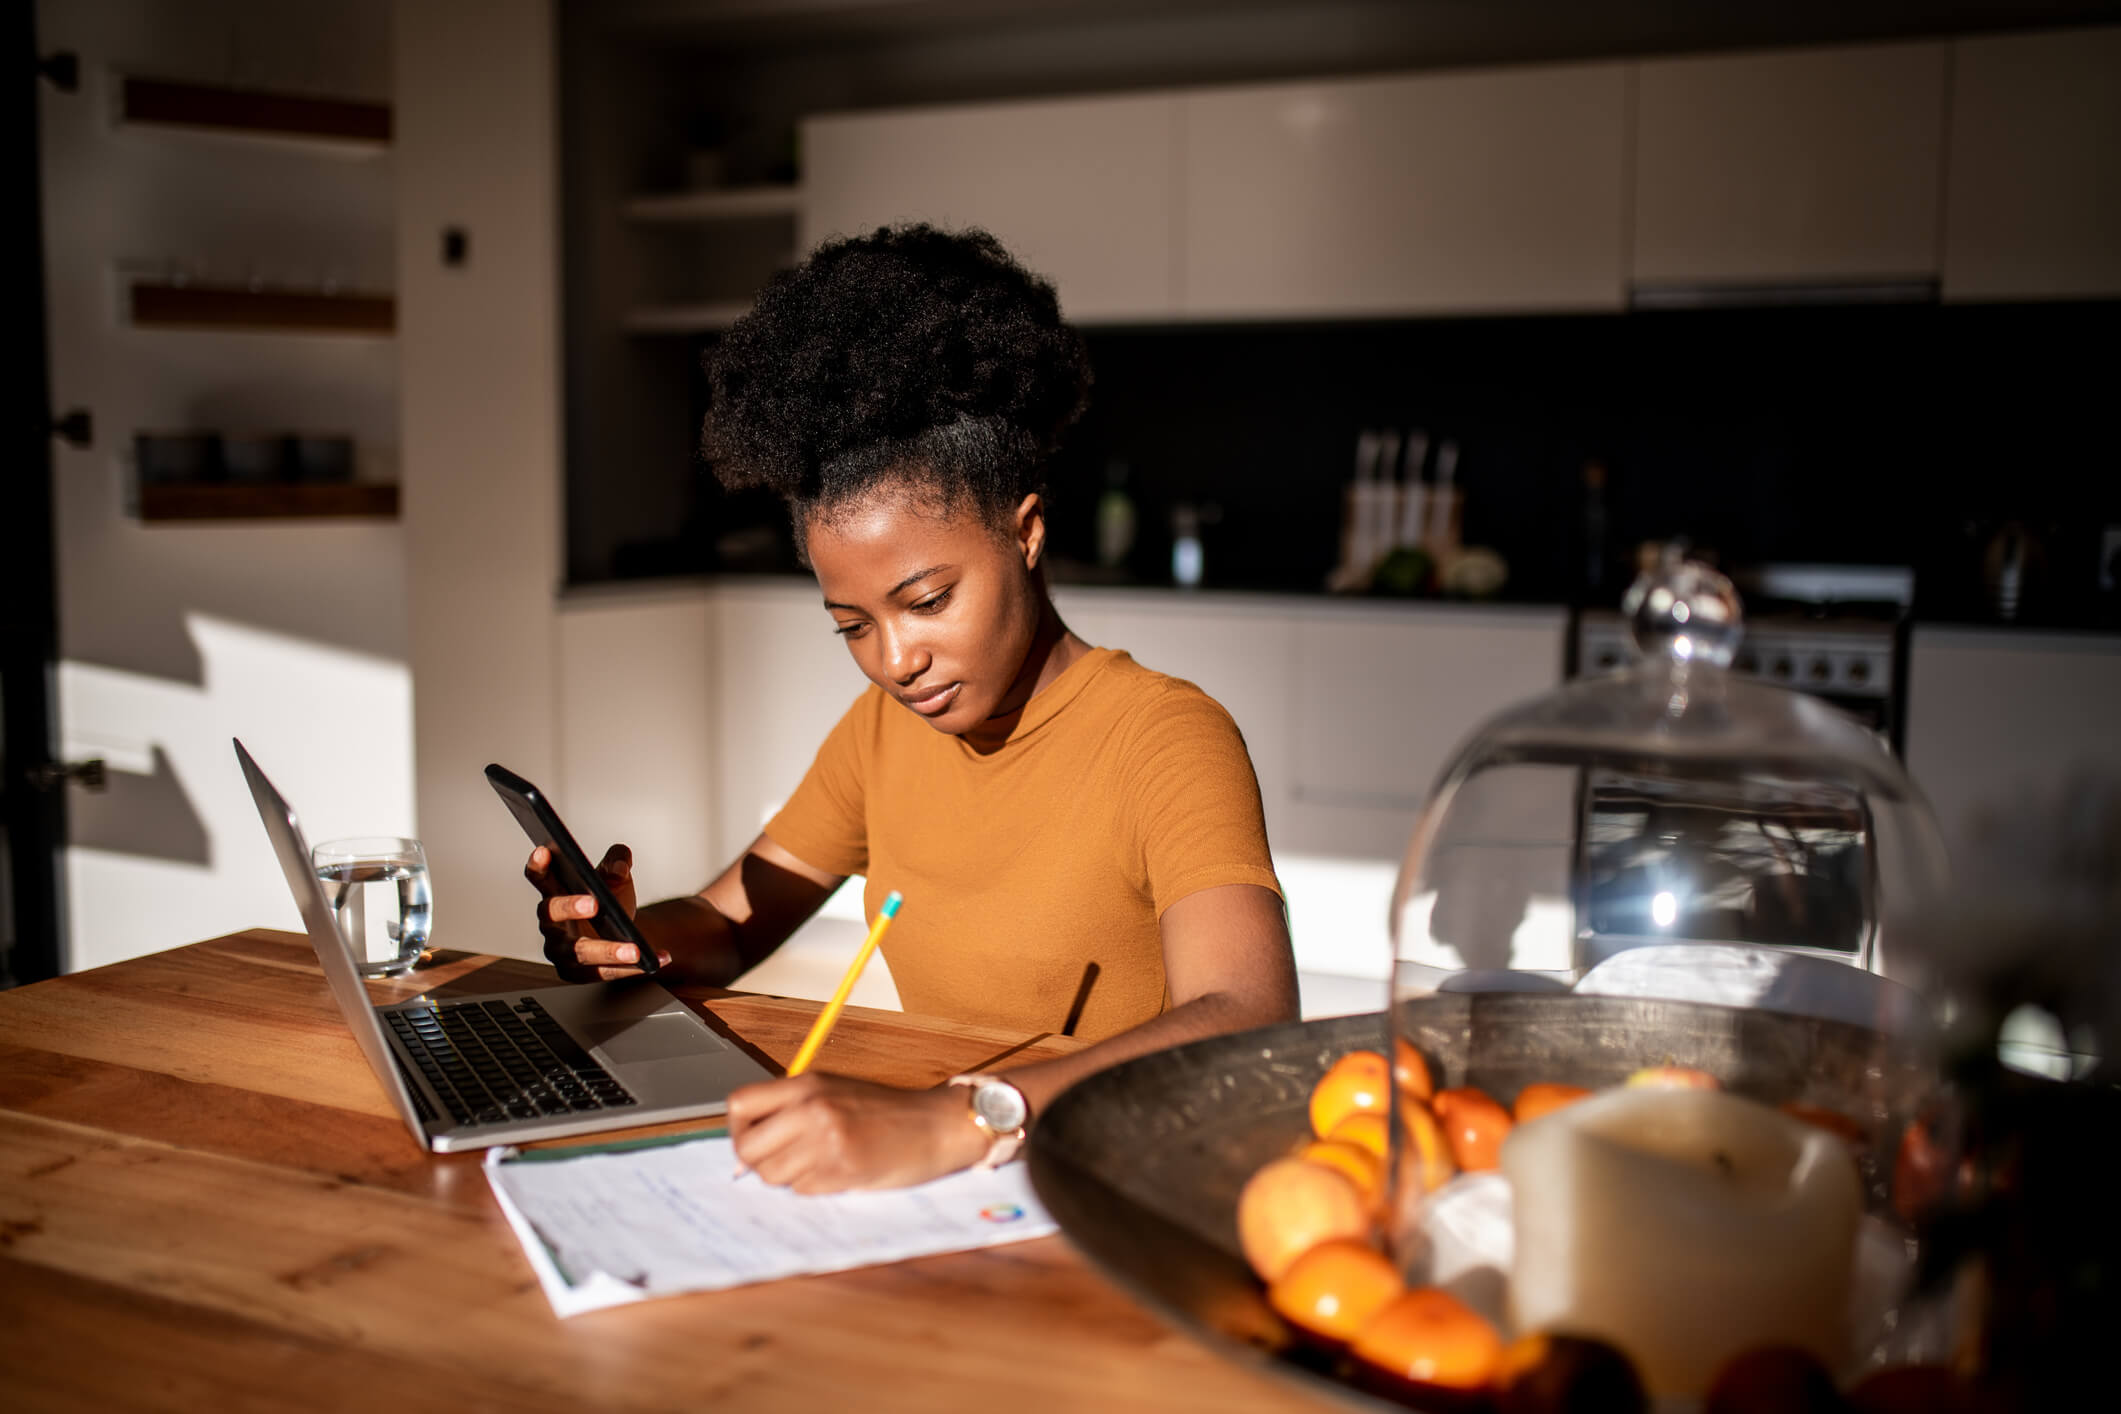
<path id="1" fill-rule="evenodd" d="M 1184 100 L 1188 314 L 1616 310 L 1627 70 Z"/>

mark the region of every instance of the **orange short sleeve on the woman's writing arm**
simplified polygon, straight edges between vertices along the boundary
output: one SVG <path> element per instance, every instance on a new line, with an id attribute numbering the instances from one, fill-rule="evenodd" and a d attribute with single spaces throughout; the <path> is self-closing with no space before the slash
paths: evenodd
<path id="1" fill-rule="evenodd" d="M 1281 892 L 1245 738 L 1192 685 L 1145 704 L 1128 748 L 1133 848 L 1156 914 L 1224 884 Z"/>

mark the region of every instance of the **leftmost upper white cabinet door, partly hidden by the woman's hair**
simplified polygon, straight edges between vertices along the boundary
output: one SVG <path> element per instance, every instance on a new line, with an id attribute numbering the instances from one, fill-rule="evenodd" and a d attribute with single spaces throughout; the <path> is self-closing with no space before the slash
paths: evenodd
<path id="1" fill-rule="evenodd" d="M 895 220 L 986 227 L 1071 320 L 1173 310 L 1175 98 L 1084 98 L 802 125 L 802 248 Z"/>

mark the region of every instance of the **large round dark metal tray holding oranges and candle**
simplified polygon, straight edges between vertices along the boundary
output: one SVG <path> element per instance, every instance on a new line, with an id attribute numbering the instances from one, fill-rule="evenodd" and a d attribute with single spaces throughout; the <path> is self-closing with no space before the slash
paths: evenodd
<path id="1" fill-rule="evenodd" d="M 1695 1066 L 1735 1094 L 1837 1109 L 1890 1155 L 1934 1085 L 1922 1041 L 1741 1007 L 1567 994 L 1438 994 L 1402 1003 L 1402 1030 L 1436 1083 L 1504 1104 L 1531 1081 L 1612 1085 L 1650 1064 Z M 1209 1348 L 1360 1410 L 1343 1380 L 1264 1300 L 1237 1242 L 1237 1194 L 1309 1136 L 1311 1088 L 1338 1056 L 1389 1054 L 1385 1013 L 1213 1037 L 1101 1071 L 1031 1134 L 1031 1183 L 1090 1261 Z M 1871 1202 L 1888 1164 L 1866 1160 Z"/>

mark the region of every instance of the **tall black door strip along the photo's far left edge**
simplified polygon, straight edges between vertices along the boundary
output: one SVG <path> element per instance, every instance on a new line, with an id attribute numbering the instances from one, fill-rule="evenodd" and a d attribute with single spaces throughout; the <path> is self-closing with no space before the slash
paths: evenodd
<path id="1" fill-rule="evenodd" d="M 0 464 L 0 986 L 53 977 L 64 948 L 66 772 L 53 759 L 59 657 L 51 524 L 51 439 L 87 439 L 87 413 L 53 418 L 45 369 L 45 197 L 38 176 L 40 83 L 72 87 L 70 61 L 38 53 L 36 2 L 17 0 L 15 42 L 30 59 L 15 70 L 11 187 L 17 259 L 15 452 Z M 17 59 L 19 61 L 19 59 Z M 40 76 L 34 76 L 40 74 Z"/>

